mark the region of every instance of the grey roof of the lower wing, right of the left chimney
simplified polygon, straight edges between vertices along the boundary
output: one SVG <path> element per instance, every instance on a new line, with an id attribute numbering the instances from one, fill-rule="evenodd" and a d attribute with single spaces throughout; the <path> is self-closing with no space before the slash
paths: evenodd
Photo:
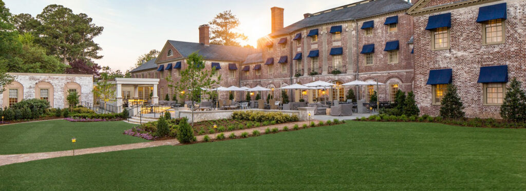
<path id="1" fill-rule="evenodd" d="M 198 52 L 204 59 L 208 60 L 227 60 L 244 61 L 248 54 L 256 52 L 253 48 L 237 46 L 209 45 L 200 43 L 190 43 L 184 41 L 168 40 L 177 51 L 187 58 L 190 54 Z"/>

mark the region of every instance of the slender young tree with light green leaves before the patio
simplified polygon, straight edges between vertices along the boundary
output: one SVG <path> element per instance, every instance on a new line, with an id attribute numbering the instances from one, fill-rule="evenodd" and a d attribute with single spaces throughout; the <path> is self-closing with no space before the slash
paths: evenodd
<path id="1" fill-rule="evenodd" d="M 178 81 L 167 79 L 170 88 L 176 88 L 179 91 L 188 91 L 185 93 L 186 96 L 192 101 L 194 105 L 195 100 L 198 100 L 202 94 L 203 89 L 210 89 L 211 86 L 218 83 L 221 80 L 221 75 L 217 77 L 214 74 L 217 72 L 215 69 L 205 69 L 205 62 L 203 57 L 194 52 L 186 59 L 187 67 L 181 71 L 181 78 Z M 192 112 L 192 125 L 194 125 L 194 109 Z"/>

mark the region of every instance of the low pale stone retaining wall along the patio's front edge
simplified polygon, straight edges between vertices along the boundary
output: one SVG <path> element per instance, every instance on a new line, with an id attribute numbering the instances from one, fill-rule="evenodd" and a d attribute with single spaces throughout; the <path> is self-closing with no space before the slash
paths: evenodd
<path id="1" fill-rule="evenodd" d="M 232 113 L 236 111 L 262 111 L 262 112 L 280 112 L 288 115 L 297 115 L 300 121 L 308 120 L 307 110 L 310 108 L 301 108 L 300 111 L 292 110 L 260 110 L 260 109 L 249 109 L 249 110 L 218 110 L 218 111 L 194 111 L 194 122 L 207 121 L 207 120 L 218 120 L 218 119 L 229 119 L 232 117 Z M 312 114 L 314 113 L 314 108 L 311 108 Z M 306 115 L 306 116 L 302 116 Z M 192 119 L 192 112 L 189 110 L 180 110 L 176 111 L 176 116 L 178 118 L 188 118 L 189 121 Z"/>

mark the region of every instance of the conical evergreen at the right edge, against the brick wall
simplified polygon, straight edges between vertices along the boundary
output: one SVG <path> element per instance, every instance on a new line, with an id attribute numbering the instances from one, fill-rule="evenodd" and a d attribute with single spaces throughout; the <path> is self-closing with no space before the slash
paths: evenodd
<path id="1" fill-rule="evenodd" d="M 514 122 L 526 120 L 526 93 L 522 83 L 513 78 L 500 107 L 500 116 Z"/>

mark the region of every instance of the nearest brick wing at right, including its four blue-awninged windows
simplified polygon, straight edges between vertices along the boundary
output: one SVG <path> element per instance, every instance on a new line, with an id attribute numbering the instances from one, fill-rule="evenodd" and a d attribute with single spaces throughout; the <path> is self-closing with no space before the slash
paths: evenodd
<path id="1" fill-rule="evenodd" d="M 452 83 L 468 117 L 500 118 L 508 80 L 526 77 L 526 1 L 413 3 L 413 90 L 421 114 L 438 115 Z"/>

